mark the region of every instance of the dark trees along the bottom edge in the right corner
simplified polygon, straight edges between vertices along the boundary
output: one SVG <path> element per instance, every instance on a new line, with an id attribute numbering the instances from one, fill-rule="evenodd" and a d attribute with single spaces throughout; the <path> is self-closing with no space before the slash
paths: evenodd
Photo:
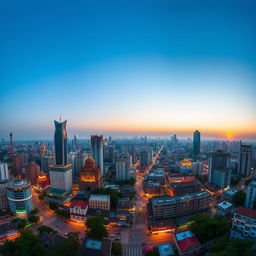
<path id="1" fill-rule="evenodd" d="M 210 246 L 210 256 L 251 256 L 253 241 L 248 239 L 219 238 Z"/>

